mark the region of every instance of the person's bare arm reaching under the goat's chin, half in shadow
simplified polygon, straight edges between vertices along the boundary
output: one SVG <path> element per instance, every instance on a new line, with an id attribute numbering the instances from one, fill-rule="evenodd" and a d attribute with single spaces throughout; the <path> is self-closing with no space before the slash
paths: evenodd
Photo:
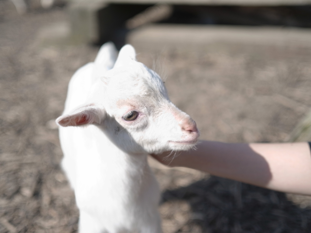
<path id="1" fill-rule="evenodd" d="M 301 143 L 221 143 L 201 140 L 196 149 L 152 155 L 170 167 L 188 167 L 263 188 L 311 195 L 311 153 Z"/>

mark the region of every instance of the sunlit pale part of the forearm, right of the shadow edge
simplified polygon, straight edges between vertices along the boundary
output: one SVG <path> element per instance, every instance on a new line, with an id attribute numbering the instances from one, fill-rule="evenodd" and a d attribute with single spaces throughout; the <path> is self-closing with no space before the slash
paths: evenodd
<path id="1" fill-rule="evenodd" d="M 311 195 L 311 153 L 308 143 L 250 144 L 269 164 L 267 188 Z"/>

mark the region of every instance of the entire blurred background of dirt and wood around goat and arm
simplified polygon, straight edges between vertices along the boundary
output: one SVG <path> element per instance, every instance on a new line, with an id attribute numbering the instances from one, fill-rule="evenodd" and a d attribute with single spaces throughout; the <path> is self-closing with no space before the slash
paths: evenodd
<path id="1" fill-rule="evenodd" d="M 311 140 L 310 0 L 0 0 L 1 233 L 77 232 L 54 120 L 106 41 L 136 48 L 201 139 Z M 310 197 L 150 164 L 164 233 L 311 232 Z"/>

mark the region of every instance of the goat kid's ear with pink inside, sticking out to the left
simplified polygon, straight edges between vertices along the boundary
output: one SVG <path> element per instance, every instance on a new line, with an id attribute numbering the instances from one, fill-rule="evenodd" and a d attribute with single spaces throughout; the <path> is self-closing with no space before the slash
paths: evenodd
<path id="1" fill-rule="evenodd" d="M 105 117 L 104 109 L 87 105 L 79 107 L 71 114 L 60 116 L 56 119 L 59 126 L 83 126 L 88 124 L 100 124 Z"/>

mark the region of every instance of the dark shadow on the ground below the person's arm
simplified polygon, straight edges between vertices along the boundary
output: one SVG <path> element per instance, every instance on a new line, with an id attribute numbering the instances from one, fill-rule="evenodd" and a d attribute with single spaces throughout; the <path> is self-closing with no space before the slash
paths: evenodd
<path id="1" fill-rule="evenodd" d="M 187 225 L 199 225 L 203 232 L 311 232 L 311 208 L 300 208 L 284 193 L 216 176 L 163 193 L 162 203 L 174 200 L 190 204 Z"/>

